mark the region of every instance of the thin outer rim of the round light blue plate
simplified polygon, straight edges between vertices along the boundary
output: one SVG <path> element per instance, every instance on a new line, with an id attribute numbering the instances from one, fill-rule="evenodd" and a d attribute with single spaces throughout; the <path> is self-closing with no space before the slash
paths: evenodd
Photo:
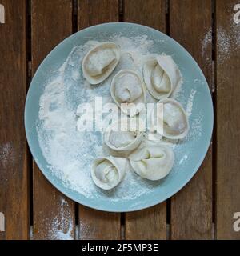
<path id="1" fill-rule="evenodd" d="M 198 71 L 200 71 L 200 74 L 201 74 L 201 77 L 203 79 L 203 82 L 205 83 L 204 86 L 206 86 L 207 88 L 207 92 L 208 92 L 208 97 L 210 98 L 210 130 L 209 130 L 209 138 L 207 139 L 207 143 L 206 143 L 206 146 L 204 148 L 202 148 L 202 152 L 204 152 L 204 154 L 202 154 L 202 157 L 199 158 L 199 161 L 196 163 L 195 167 L 194 167 L 194 170 L 191 171 L 191 173 L 185 178 L 185 181 L 182 182 L 181 186 L 178 186 L 177 188 L 175 188 L 175 190 L 172 190 L 171 193 L 166 193 L 166 196 L 165 196 L 165 199 L 161 199 L 159 200 L 158 198 L 153 198 L 152 199 L 152 203 L 149 203 L 147 204 L 146 206 L 135 206 L 133 209 L 130 208 L 130 207 L 126 207 L 126 208 L 122 208 L 121 210 L 119 209 L 114 209 L 114 207 L 112 207 L 111 209 L 106 209 L 107 207 L 104 208 L 104 206 L 102 207 L 98 207 L 98 206 L 93 206 L 91 203 L 90 204 L 87 204 L 86 202 L 80 202 L 81 200 L 78 200 L 78 198 L 74 198 L 71 194 L 67 193 L 67 189 L 65 188 L 65 186 L 59 186 L 58 184 L 56 184 L 56 182 L 54 182 L 50 177 L 49 175 L 46 173 L 46 171 L 44 170 L 44 168 L 42 167 L 41 163 L 38 162 L 38 158 L 35 158 L 34 156 L 34 146 L 32 145 L 32 143 L 30 142 L 30 138 L 29 138 L 29 134 L 27 132 L 28 130 L 28 117 L 27 117 L 27 112 L 28 112 L 28 109 L 29 109 L 29 98 L 30 98 L 30 91 L 33 90 L 33 86 L 32 84 L 34 83 L 34 79 L 36 78 L 39 70 L 41 70 L 42 66 L 44 66 L 45 62 L 46 62 L 46 59 L 49 58 L 50 54 L 56 49 L 58 48 L 58 46 L 64 44 L 67 40 L 70 40 L 70 38 L 74 38 L 76 36 L 76 34 L 80 34 L 82 33 L 83 31 L 85 30 L 89 30 L 90 28 L 98 28 L 101 27 L 101 26 L 106 26 L 106 25 L 118 25 L 119 24 L 125 26 L 125 25 L 131 25 L 131 26 L 139 26 L 139 27 L 144 27 L 145 29 L 147 30 L 152 30 L 152 31 L 155 31 L 157 33 L 160 33 L 162 34 L 164 37 L 170 39 L 170 40 L 173 40 L 180 48 L 182 48 L 182 50 L 185 51 L 185 53 L 187 55 L 189 55 L 189 57 L 194 61 L 194 63 L 196 64 L 196 66 L 198 67 Z M 90 207 L 92 209 L 95 209 L 95 210 L 102 210 L 102 211 L 106 211 L 106 212 L 114 212 L 114 213 L 121 213 L 121 212 L 133 212 L 133 211 L 136 211 L 136 210 L 144 210 L 146 208 L 150 208 L 151 206 L 156 206 L 164 201 L 166 201 L 168 198 L 171 198 L 174 194 L 177 194 L 179 190 L 182 190 L 182 188 L 184 186 L 186 186 L 186 184 L 188 182 L 190 182 L 190 180 L 194 177 L 194 175 L 198 172 L 200 166 L 202 165 L 202 162 L 204 161 L 204 159 L 206 158 L 206 154 L 207 154 L 207 151 L 209 150 L 209 147 L 210 147 L 210 142 L 211 142 L 211 138 L 212 138 L 212 134 L 213 134 L 213 128 L 214 128 L 214 106 L 213 106 L 213 101 L 212 101 L 212 96 L 211 96 L 211 93 L 210 93 L 210 88 L 208 86 L 208 82 L 206 81 L 206 78 L 205 78 L 205 75 L 203 74 L 202 72 L 202 69 L 200 68 L 200 66 L 198 66 L 198 62 L 196 62 L 196 60 L 193 58 L 193 56 L 188 52 L 188 50 L 186 50 L 185 47 L 183 47 L 180 43 L 178 43 L 176 40 L 174 40 L 174 38 L 171 38 L 170 36 L 168 36 L 167 34 L 164 34 L 162 33 L 161 31 L 159 30 L 156 30 L 150 26 L 144 26 L 144 25 L 141 25 L 141 24 L 138 24 L 138 23 L 133 23 L 133 22 L 105 22 L 105 23 L 101 23 L 101 24 L 98 24 L 98 25 L 94 25 L 94 26 L 88 26 L 86 27 L 85 29 L 83 30 L 79 30 L 78 32 L 74 33 L 74 34 L 71 34 L 69 37 L 63 39 L 61 42 L 58 43 L 58 45 L 54 46 L 54 48 L 52 50 L 50 50 L 50 52 L 46 55 L 46 57 L 42 60 L 41 64 L 38 66 L 38 69 L 35 71 L 34 73 L 34 76 L 33 78 L 31 79 L 31 82 L 30 82 L 30 86 L 27 90 L 27 94 L 26 94 L 26 102 L 25 102 L 25 109 L 24 109 L 24 127 L 25 127 L 25 133 L 26 133 L 26 141 L 28 143 L 28 146 L 30 148 L 30 152 L 33 156 L 33 159 L 34 159 L 34 162 L 36 162 L 39 170 L 41 170 L 42 174 L 44 175 L 44 177 L 48 180 L 48 182 L 50 182 L 55 188 L 57 188 L 62 194 L 66 195 L 67 198 L 70 198 L 71 200 L 73 200 L 74 202 L 78 202 L 79 204 L 83 205 L 83 206 L 87 206 L 87 207 Z M 41 149 L 40 149 L 41 150 Z M 140 198 L 138 198 L 139 200 Z"/>

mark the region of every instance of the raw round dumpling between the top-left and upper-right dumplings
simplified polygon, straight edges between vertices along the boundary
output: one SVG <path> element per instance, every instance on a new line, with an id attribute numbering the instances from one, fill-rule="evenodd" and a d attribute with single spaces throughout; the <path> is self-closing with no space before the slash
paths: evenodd
<path id="1" fill-rule="evenodd" d="M 138 114 L 145 107 L 142 78 L 132 70 L 119 71 L 111 82 L 110 92 L 114 102 L 130 117 Z"/>

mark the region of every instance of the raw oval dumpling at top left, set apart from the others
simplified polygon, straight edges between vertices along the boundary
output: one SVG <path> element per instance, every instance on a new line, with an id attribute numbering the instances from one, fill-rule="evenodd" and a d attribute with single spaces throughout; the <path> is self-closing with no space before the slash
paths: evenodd
<path id="1" fill-rule="evenodd" d="M 119 59 L 120 49 L 114 42 L 100 43 L 83 58 L 83 76 L 90 84 L 98 84 L 114 71 Z"/>

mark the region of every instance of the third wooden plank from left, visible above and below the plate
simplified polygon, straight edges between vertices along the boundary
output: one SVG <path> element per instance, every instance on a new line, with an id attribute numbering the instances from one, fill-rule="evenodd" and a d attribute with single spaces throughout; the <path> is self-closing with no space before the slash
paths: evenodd
<path id="1" fill-rule="evenodd" d="M 118 0 L 78 0 L 78 30 L 102 22 L 118 22 Z M 81 239 L 119 239 L 120 214 L 79 205 Z"/>

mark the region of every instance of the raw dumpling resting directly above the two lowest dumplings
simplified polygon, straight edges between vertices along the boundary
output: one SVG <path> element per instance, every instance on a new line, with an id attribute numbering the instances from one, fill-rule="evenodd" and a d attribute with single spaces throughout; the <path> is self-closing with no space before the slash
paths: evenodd
<path id="1" fill-rule="evenodd" d="M 138 126 L 135 126 L 133 129 L 128 129 L 130 123 L 135 122 L 136 120 L 138 119 L 122 119 L 113 122 L 107 127 L 104 134 L 106 146 L 111 150 L 118 152 L 132 151 L 136 149 L 142 142 L 143 131 L 137 128 Z"/>

